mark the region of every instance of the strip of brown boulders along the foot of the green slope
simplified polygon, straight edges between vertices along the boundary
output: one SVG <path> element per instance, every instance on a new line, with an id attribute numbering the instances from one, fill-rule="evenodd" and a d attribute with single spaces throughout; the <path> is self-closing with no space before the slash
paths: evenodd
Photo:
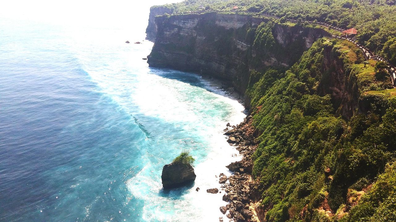
<path id="1" fill-rule="evenodd" d="M 257 199 L 260 197 L 257 193 L 258 181 L 251 175 L 253 169 L 251 156 L 258 144 L 251 122 L 252 116 L 246 117 L 240 125 L 225 132 L 225 135 L 228 136 L 228 143 L 236 146 L 236 149 L 243 155 L 241 161 L 233 162 L 227 166 L 233 172 L 230 177 L 219 176 L 219 183 L 222 184 L 221 190 L 226 193 L 223 196 L 223 201 L 228 202 L 227 205 L 220 207 L 220 211 L 229 221 L 259 222 L 256 212 L 259 211 L 256 206 L 258 205 Z M 227 220 L 227 218 L 220 217 L 219 221 Z"/>

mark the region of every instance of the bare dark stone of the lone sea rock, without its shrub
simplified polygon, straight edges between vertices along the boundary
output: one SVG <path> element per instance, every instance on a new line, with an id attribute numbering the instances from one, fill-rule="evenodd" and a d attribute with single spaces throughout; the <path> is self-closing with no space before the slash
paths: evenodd
<path id="1" fill-rule="evenodd" d="M 194 168 L 190 164 L 172 163 L 162 168 L 162 186 L 164 188 L 176 188 L 188 182 L 195 181 Z"/>

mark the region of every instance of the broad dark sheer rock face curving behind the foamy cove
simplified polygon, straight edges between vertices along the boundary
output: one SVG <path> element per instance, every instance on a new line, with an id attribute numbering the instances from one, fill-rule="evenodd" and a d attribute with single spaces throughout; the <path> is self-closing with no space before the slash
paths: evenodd
<path id="1" fill-rule="evenodd" d="M 284 69 L 297 62 L 318 38 L 320 29 L 287 26 L 249 15 L 177 15 L 156 17 L 156 43 L 148 56 L 153 67 L 192 71 L 228 81 L 240 93 L 251 70 Z M 259 45 L 257 28 L 270 26 L 274 42 Z"/>

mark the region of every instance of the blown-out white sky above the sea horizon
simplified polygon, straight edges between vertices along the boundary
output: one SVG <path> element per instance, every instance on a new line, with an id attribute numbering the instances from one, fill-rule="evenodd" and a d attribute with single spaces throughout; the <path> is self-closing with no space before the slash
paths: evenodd
<path id="1" fill-rule="evenodd" d="M 147 25 L 150 6 L 181 0 L 1 0 L 0 19 L 52 24 Z"/>

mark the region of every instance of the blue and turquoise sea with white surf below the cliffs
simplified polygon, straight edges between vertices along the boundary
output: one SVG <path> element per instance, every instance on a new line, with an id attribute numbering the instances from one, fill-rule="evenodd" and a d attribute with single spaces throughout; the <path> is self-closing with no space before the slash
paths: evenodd
<path id="1" fill-rule="evenodd" d="M 240 158 L 222 130 L 244 107 L 198 75 L 149 68 L 152 43 L 129 32 L 0 19 L 0 221 L 222 216 L 205 190 Z M 184 150 L 195 184 L 162 190 Z"/>

